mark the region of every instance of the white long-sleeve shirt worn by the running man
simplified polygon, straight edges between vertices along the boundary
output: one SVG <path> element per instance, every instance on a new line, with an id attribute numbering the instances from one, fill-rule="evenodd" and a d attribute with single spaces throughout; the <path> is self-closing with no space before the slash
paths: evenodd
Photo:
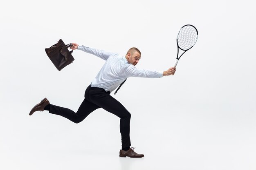
<path id="1" fill-rule="evenodd" d="M 126 57 L 117 53 L 92 49 L 86 46 L 78 46 L 77 49 L 106 60 L 97 76 L 91 82 L 91 87 L 103 88 L 105 91 L 110 91 L 111 93 L 128 77 L 163 77 L 163 71 L 158 72 L 136 68 L 132 64 L 129 64 Z"/>

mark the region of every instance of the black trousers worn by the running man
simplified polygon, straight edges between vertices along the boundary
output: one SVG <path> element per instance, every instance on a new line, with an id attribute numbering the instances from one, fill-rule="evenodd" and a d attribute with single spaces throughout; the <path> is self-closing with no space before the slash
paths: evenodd
<path id="1" fill-rule="evenodd" d="M 122 148 L 130 146 L 131 115 L 120 102 L 110 96 L 110 92 L 106 92 L 103 88 L 88 86 L 85 90 L 85 99 L 76 113 L 68 108 L 52 104 L 50 105 L 49 113 L 61 115 L 74 123 L 79 123 L 97 108 L 103 108 L 120 117 Z"/>

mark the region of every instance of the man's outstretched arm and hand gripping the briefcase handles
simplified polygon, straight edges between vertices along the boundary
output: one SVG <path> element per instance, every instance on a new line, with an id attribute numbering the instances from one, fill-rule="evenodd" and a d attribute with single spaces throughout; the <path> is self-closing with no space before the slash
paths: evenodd
<path id="1" fill-rule="evenodd" d="M 73 44 L 73 46 L 71 46 L 70 49 L 72 49 L 72 50 L 76 50 L 76 49 L 82 50 L 86 53 L 96 55 L 97 57 L 100 57 L 103 60 L 107 60 L 110 55 L 115 54 L 115 53 L 110 53 L 110 52 L 106 52 L 106 51 L 103 51 L 103 50 L 89 48 L 89 47 L 86 47 L 86 46 L 79 46 L 76 43 L 72 43 L 72 44 Z"/>

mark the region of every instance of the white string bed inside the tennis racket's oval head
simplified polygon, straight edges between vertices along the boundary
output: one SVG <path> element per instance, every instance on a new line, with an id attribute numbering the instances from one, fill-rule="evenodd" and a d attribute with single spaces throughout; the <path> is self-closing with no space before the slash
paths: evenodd
<path id="1" fill-rule="evenodd" d="M 180 30 L 177 41 L 180 49 L 187 50 L 195 45 L 198 38 L 198 33 L 193 26 L 184 26 Z"/>

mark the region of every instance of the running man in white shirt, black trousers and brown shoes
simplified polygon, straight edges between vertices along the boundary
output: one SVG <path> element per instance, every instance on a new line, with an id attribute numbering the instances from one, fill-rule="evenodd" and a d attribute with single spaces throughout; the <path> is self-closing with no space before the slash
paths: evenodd
<path id="1" fill-rule="evenodd" d="M 136 68 L 135 66 L 141 58 L 141 52 L 135 47 L 129 49 L 126 56 L 123 57 L 117 53 L 79 46 L 76 43 L 72 44 L 73 46 L 70 47 L 72 50 L 82 50 L 106 60 L 98 75 L 85 90 L 85 99 L 78 111 L 75 113 L 68 108 L 54 106 L 45 98 L 32 108 L 29 115 L 32 115 L 35 111 L 48 110 L 49 113 L 61 115 L 74 123 L 79 123 L 97 108 L 103 108 L 120 118 L 122 148 L 119 156 L 144 157 L 143 154 L 134 152 L 134 148 L 130 148 L 130 113 L 121 103 L 110 96 L 110 93 L 118 86 L 120 88 L 128 77 L 160 78 L 166 75 L 174 75 L 176 69 L 171 67 L 167 71 L 158 72 Z"/>

